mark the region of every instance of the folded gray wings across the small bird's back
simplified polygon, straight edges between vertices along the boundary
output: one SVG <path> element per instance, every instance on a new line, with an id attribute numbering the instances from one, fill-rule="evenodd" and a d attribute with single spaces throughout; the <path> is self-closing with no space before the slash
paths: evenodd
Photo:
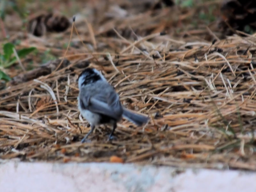
<path id="1" fill-rule="evenodd" d="M 103 114 L 113 119 L 119 119 L 123 114 L 123 107 L 115 91 L 80 99 L 82 107 L 93 113 Z"/>

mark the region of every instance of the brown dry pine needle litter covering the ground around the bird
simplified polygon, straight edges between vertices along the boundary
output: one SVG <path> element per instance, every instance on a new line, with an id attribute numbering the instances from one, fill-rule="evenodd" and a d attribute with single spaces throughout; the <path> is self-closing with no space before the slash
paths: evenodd
<path id="1" fill-rule="evenodd" d="M 0 158 L 256 170 L 255 35 L 219 38 L 196 18 L 218 1 L 184 9 L 106 2 L 77 2 L 82 10 L 67 31 L 41 37 L 7 22 L 15 15 L 5 18 L 9 41 L 38 51 L 21 60 L 34 71 L 6 69 L 14 78 L 0 90 Z M 82 144 L 90 127 L 79 116 L 76 80 L 88 66 L 149 123 L 122 120 L 110 141 L 103 125 Z"/>

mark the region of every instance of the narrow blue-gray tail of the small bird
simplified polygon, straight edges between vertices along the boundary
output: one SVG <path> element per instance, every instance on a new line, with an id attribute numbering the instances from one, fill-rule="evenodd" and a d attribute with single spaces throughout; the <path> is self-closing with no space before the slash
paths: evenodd
<path id="1" fill-rule="evenodd" d="M 149 117 L 132 112 L 131 110 L 128 110 L 126 108 L 124 108 L 123 117 L 139 126 L 147 123 L 149 120 Z"/>

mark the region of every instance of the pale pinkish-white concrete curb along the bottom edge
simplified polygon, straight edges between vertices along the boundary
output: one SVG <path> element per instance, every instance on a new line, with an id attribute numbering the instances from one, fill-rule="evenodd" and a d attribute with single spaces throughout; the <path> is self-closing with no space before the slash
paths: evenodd
<path id="1" fill-rule="evenodd" d="M 256 173 L 179 170 L 136 164 L 9 161 L 0 164 L 0 186 L 3 192 L 256 191 Z"/>

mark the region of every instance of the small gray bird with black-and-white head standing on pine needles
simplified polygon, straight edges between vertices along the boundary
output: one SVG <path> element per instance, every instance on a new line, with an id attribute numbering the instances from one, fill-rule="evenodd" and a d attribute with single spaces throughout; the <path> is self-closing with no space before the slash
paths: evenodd
<path id="1" fill-rule="evenodd" d="M 93 132 L 96 125 L 112 124 L 113 130 L 109 135 L 111 139 L 116 129 L 116 122 L 122 117 L 137 125 L 147 123 L 149 120 L 147 116 L 124 108 L 115 89 L 94 68 L 86 68 L 79 75 L 78 87 L 78 109 L 91 125 L 91 130 L 84 136 L 82 143 Z"/>

